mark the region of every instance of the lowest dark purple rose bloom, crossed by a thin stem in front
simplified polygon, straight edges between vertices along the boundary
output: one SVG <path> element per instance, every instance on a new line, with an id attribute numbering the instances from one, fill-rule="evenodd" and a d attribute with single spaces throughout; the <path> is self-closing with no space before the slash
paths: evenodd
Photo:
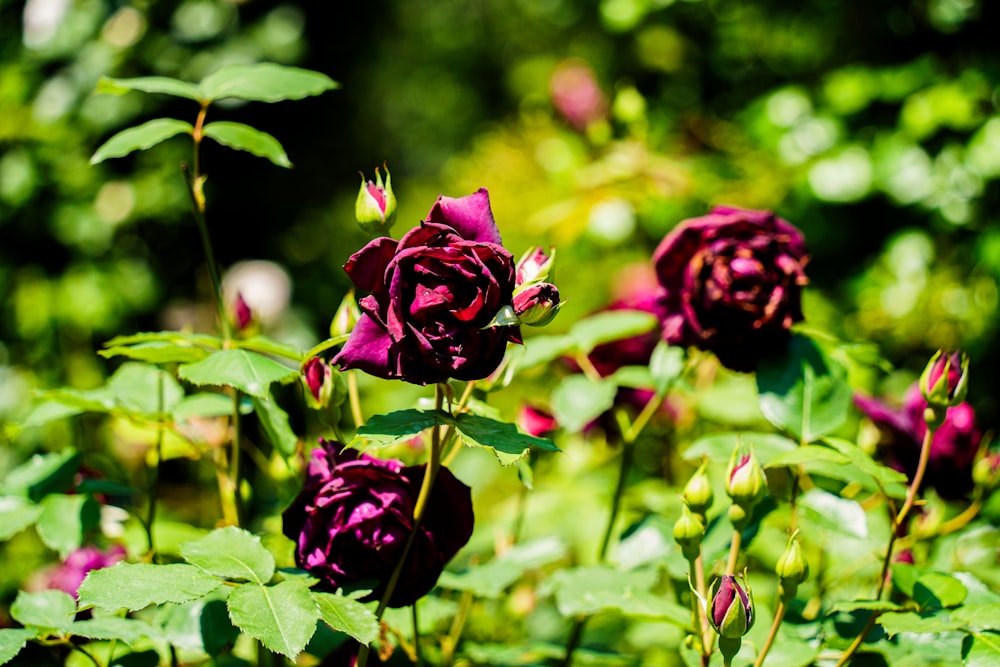
<path id="1" fill-rule="evenodd" d="M 426 468 L 320 444 L 302 492 L 282 514 L 295 562 L 330 590 L 371 588 L 362 601 L 381 599 L 413 531 Z M 469 487 L 441 468 L 390 607 L 412 604 L 434 588 L 445 563 L 469 541 L 472 523 Z"/>

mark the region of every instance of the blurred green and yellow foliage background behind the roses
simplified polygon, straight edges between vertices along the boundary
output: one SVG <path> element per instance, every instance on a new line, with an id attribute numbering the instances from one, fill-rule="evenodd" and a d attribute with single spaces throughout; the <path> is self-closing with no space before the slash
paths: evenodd
<path id="1" fill-rule="evenodd" d="M 383 162 L 397 237 L 439 193 L 486 186 L 515 256 L 555 244 L 555 330 L 605 304 L 679 220 L 770 208 L 809 241 L 811 325 L 911 371 L 939 346 L 967 349 L 991 425 L 975 369 L 1000 361 L 998 13 L 981 0 L 0 0 L 0 420 L 34 388 L 100 384 L 112 368 L 94 351 L 115 334 L 212 326 L 178 168 L 188 146 L 88 164 L 123 127 L 197 108 L 94 95 L 97 80 L 273 61 L 342 88 L 212 110 L 271 133 L 295 164 L 203 156 L 223 267 L 284 271 L 267 283 L 269 335 L 325 337 L 340 267 L 367 241 L 357 174 Z"/>

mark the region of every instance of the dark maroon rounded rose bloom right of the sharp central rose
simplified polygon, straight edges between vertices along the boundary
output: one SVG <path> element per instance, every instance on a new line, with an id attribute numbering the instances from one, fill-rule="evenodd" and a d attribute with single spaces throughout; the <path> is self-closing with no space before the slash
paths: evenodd
<path id="1" fill-rule="evenodd" d="M 663 338 L 754 370 L 802 319 L 808 259 L 802 233 L 769 211 L 719 206 L 681 222 L 653 253 L 666 289 Z"/>

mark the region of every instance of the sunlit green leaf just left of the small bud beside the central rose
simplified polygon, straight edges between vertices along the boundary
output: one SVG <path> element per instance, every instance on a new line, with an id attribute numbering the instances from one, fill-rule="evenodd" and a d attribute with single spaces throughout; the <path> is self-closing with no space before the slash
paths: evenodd
<path id="1" fill-rule="evenodd" d="M 298 369 L 247 350 L 221 350 L 179 369 L 181 379 L 196 385 L 226 385 L 245 394 L 266 398 L 272 382 L 287 382 L 299 376 Z"/>

